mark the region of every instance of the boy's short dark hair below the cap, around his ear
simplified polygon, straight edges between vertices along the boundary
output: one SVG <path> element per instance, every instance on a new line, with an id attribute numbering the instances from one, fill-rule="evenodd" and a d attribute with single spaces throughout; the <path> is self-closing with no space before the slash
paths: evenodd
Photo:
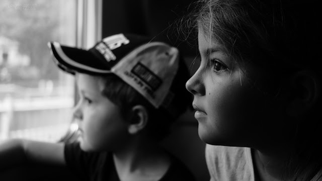
<path id="1" fill-rule="evenodd" d="M 177 75 L 175 76 L 170 90 L 175 94 L 172 105 L 177 108 L 177 114 L 170 114 L 162 106 L 158 109 L 153 107 L 140 93 L 125 83 L 114 74 L 101 76 L 103 83 L 102 94 L 120 107 L 122 115 L 130 115 L 129 111 L 135 105 L 142 105 L 147 109 L 148 121 L 146 128 L 149 136 L 156 141 L 162 140 L 170 132 L 171 125 L 183 114 L 189 105 L 192 97 L 185 89 L 185 82 L 189 79 L 189 73 L 183 59 L 179 62 Z M 126 118 L 126 117 L 125 117 Z"/>

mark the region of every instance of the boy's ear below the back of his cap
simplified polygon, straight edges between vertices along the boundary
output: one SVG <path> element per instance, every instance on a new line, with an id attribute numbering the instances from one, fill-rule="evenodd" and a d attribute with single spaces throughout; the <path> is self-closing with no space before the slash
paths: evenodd
<path id="1" fill-rule="evenodd" d="M 148 113 L 144 106 L 135 105 L 132 107 L 132 116 L 130 124 L 128 126 L 128 131 L 130 134 L 136 134 L 141 131 L 147 124 Z"/>

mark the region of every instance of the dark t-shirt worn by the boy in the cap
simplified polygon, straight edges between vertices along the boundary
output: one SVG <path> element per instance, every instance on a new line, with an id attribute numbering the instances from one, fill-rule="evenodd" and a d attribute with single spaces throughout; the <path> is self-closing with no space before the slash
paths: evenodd
<path id="1" fill-rule="evenodd" d="M 111 152 L 85 152 L 75 142 L 65 145 L 64 154 L 67 167 L 79 179 L 120 181 Z M 159 181 L 195 181 L 187 166 L 173 155 L 170 156 L 170 167 Z"/>

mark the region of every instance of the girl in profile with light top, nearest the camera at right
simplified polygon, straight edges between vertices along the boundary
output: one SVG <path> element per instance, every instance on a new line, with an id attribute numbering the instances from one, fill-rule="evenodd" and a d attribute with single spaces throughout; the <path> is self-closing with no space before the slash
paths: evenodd
<path id="1" fill-rule="evenodd" d="M 186 88 L 211 180 L 322 180 L 317 6 L 198 3 L 201 63 Z"/>

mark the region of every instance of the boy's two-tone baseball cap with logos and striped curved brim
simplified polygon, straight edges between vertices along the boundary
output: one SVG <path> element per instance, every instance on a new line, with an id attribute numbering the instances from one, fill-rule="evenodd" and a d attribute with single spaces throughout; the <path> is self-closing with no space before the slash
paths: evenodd
<path id="1" fill-rule="evenodd" d="M 57 42 L 48 42 L 48 47 L 54 62 L 63 71 L 73 75 L 76 72 L 115 74 L 155 108 L 163 107 L 171 115 L 178 114 L 177 106 L 172 104 L 176 90 L 171 90 L 179 69 L 177 48 L 133 34 L 108 36 L 89 50 Z"/>

